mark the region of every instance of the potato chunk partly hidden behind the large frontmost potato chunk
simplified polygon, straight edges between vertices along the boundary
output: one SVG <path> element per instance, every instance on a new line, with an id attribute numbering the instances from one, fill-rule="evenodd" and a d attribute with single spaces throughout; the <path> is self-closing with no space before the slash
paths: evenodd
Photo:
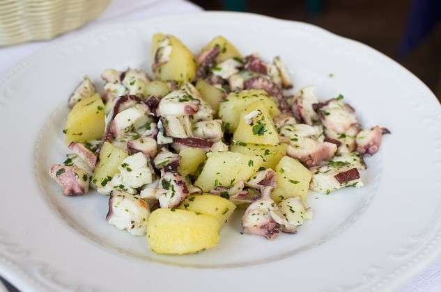
<path id="1" fill-rule="evenodd" d="M 217 195 L 203 194 L 187 197 L 180 204 L 179 209 L 213 216 L 222 227 L 233 214 L 235 204 Z"/>

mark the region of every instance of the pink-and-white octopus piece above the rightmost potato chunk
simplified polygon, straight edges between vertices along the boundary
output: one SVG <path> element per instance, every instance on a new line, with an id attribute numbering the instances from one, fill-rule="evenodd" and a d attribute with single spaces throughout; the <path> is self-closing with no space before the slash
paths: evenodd
<path id="1" fill-rule="evenodd" d="M 334 156 L 337 147 L 333 143 L 318 142 L 311 138 L 299 138 L 297 142 L 291 142 L 286 149 L 286 154 L 302 161 L 308 168 L 319 165 Z"/>

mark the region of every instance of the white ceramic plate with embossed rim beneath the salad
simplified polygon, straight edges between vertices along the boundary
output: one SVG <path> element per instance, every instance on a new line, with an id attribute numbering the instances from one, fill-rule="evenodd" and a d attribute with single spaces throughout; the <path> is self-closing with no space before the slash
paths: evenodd
<path id="1" fill-rule="evenodd" d="M 367 159 L 366 187 L 311 195 L 315 217 L 295 235 L 241 235 L 235 218 L 218 248 L 181 257 L 153 254 L 144 238 L 107 225 L 107 197 L 61 195 L 47 169 L 66 152 L 68 95 L 84 74 L 147 69 L 156 32 L 194 52 L 222 34 L 243 54 L 279 55 L 296 89 L 342 93 L 366 127 L 389 127 Z M 107 26 L 3 76 L 0 124 L 0 274 L 23 291 L 391 291 L 440 251 L 440 104 L 394 61 L 316 26 L 239 13 Z"/>

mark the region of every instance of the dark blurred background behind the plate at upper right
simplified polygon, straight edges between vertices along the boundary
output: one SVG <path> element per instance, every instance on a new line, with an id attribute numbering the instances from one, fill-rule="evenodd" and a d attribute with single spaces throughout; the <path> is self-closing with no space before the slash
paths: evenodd
<path id="1" fill-rule="evenodd" d="M 316 24 L 398 61 L 441 100 L 441 0 L 192 0 Z"/>

